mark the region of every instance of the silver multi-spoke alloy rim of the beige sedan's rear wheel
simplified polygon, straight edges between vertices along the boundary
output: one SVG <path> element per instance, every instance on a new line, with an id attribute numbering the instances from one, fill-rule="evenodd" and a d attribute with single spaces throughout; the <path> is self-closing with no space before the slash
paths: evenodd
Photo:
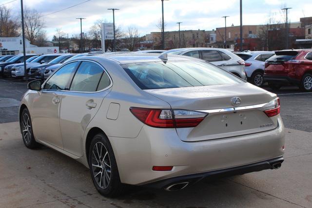
<path id="1" fill-rule="evenodd" d="M 108 151 L 103 143 L 97 142 L 92 150 L 93 176 L 102 189 L 106 189 L 111 181 L 112 168 Z"/>

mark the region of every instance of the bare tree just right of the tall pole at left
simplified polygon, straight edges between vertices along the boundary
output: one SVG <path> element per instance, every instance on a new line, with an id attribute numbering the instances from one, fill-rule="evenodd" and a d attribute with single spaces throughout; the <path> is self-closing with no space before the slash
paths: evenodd
<path id="1" fill-rule="evenodd" d="M 35 9 L 24 9 L 25 36 L 32 43 L 36 44 L 39 37 L 42 37 L 44 22 L 40 13 Z"/>

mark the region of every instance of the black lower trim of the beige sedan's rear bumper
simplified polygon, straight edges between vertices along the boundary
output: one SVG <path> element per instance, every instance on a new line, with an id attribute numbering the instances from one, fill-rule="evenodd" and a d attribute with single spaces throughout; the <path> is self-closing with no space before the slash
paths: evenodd
<path id="1" fill-rule="evenodd" d="M 202 173 L 196 173 L 196 174 L 190 174 L 190 175 L 183 175 L 183 176 L 177 176 L 173 178 L 167 178 L 164 180 L 156 181 L 153 183 L 145 184 L 144 187 L 149 188 L 156 188 L 156 189 L 165 189 L 167 187 L 170 187 L 174 184 L 178 183 L 189 183 L 190 185 L 195 184 L 203 179 L 205 180 L 213 180 L 216 178 L 223 178 L 233 175 L 241 175 L 249 172 L 255 172 L 255 171 L 261 171 L 261 170 L 267 170 L 267 169 L 274 169 L 273 165 L 276 165 L 278 163 L 282 163 L 284 161 L 283 156 L 276 157 L 273 159 L 256 162 L 248 165 L 233 167 L 233 168 L 227 168 L 222 170 L 213 170 L 208 172 L 202 172 Z"/>

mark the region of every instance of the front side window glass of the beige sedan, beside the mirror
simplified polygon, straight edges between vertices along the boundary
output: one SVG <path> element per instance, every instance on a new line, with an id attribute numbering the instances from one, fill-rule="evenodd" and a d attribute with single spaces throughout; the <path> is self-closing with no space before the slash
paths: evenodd
<path id="1" fill-rule="evenodd" d="M 68 90 L 68 82 L 73 77 L 78 62 L 72 62 L 61 67 L 51 78 L 45 83 L 45 90 Z"/>

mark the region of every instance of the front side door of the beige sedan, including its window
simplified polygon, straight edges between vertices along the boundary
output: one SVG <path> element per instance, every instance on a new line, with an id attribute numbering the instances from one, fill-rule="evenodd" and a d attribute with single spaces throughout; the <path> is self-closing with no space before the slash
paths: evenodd
<path id="1" fill-rule="evenodd" d="M 77 69 L 78 62 L 61 67 L 43 85 L 33 101 L 32 122 L 37 139 L 63 149 L 59 126 L 59 111 L 63 91 L 67 90 L 70 80 Z"/>

